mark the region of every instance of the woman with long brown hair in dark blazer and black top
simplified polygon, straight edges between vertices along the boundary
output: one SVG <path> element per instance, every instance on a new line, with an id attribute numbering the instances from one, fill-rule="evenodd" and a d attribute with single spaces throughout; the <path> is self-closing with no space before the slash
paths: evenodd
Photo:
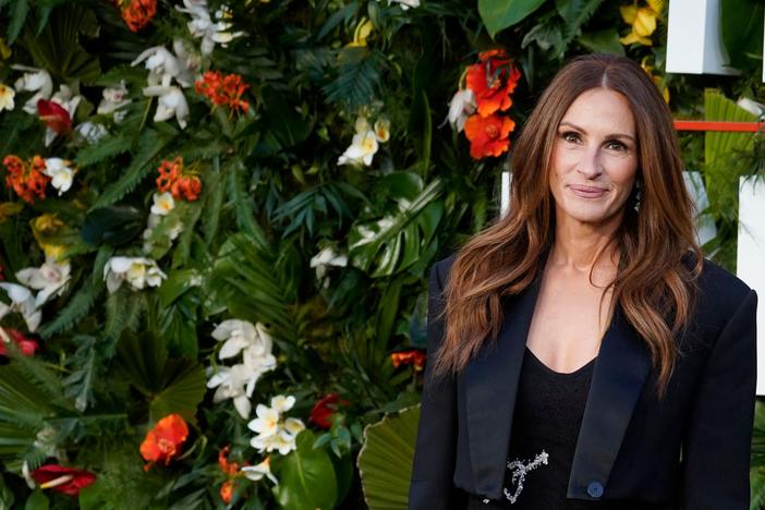
<path id="1" fill-rule="evenodd" d="M 756 294 L 702 256 L 651 78 L 575 59 L 512 168 L 430 272 L 410 508 L 749 508 Z"/>

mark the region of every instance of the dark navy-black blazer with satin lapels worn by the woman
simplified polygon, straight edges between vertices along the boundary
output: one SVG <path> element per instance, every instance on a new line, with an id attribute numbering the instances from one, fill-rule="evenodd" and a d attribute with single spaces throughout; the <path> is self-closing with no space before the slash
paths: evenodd
<path id="1" fill-rule="evenodd" d="M 537 281 L 505 302 L 497 342 L 457 377 L 430 379 L 453 257 L 430 270 L 425 373 L 409 508 L 502 499 L 515 391 Z M 663 400 L 645 343 L 617 308 L 595 362 L 568 497 L 748 509 L 757 296 L 705 260 L 693 319 Z"/>

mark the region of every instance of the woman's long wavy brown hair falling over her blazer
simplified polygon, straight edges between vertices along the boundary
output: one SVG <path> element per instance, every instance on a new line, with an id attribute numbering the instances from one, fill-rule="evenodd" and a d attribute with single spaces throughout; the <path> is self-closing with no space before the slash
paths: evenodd
<path id="1" fill-rule="evenodd" d="M 630 207 L 634 196 L 628 199 L 609 240 L 619 263 L 608 321 L 621 306 L 651 352 L 664 394 L 679 354 L 673 337 L 690 319 L 703 255 L 669 108 L 638 63 L 606 54 L 569 62 L 529 117 L 511 155 L 509 212 L 473 236 L 454 258 L 435 376 L 462 371 L 485 342 L 496 340 L 503 319 L 501 299 L 526 289 L 544 269 L 555 238 L 549 167 L 558 125 L 580 94 L 597 87 L 629 101 L 638 137 L 635 182 L 641 183 L 640 210 Z M 695 257 L 687 264 L 691 254 Z"/>

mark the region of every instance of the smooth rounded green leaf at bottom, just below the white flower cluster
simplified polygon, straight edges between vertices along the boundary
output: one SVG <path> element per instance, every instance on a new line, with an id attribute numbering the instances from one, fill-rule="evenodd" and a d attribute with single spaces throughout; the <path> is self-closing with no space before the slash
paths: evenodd
<path id="1" fill-rule="evenodd" d="M 335 508 L 337 479 L 332 462 L 324 449 L 314 449 L 315 440 L 311 430 L 300 433 L 298 449 L 279 465 L 279 485 L 274 493 L 282 509 Z"/>

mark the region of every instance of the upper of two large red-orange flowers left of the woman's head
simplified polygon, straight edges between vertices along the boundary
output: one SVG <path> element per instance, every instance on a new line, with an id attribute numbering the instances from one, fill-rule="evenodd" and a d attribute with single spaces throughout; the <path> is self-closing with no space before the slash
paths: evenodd
<path id="1" fill-rule="evenodd" d="M 484 51 L 481 63 L 467 69 L 467 88 L 475 94 L 481 117 L 506 111 L 512 105 L 510 95 L 515 90 L 521 72 L 510 62 L 505 50 Z"/>

